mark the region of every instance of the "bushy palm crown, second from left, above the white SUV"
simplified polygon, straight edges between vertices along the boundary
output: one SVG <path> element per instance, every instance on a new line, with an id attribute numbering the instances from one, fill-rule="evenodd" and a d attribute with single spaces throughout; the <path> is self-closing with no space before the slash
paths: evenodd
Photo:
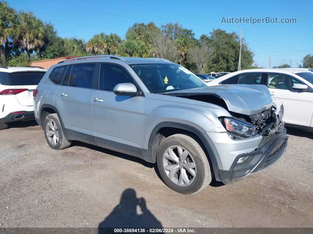
<path id="1" fill-rule="evenodd" d="M 15 43 L 28 54 L 35 50 L 39 53 L 40 48 L 44 45 L 44 24 L 35 17 L 33 12 L 19 12 L 16 25 L 18 36 L 15 38 Z"/>

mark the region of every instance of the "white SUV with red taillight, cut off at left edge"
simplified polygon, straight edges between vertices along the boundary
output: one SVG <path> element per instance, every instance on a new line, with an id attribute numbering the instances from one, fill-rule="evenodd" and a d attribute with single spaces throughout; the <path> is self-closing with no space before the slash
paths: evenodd
<path id="1" fill-rule="evenodd" d="M 0 130 L 8 123 L 34 119 L 33 90 L 47 70 L 0 66 Z"/>

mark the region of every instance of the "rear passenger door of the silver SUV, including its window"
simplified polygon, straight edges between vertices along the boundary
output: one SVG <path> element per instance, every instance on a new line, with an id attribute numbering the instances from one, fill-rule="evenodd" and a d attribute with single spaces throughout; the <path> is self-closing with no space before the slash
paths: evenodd
<path id="1" fill-rule="evenodd" d="M 68 66 L 62 85 L 54 95 L 64 127 L 72 133 L 94 137 L 92 120 L 92 94 L 94 91 L 96 63 L 79 63 Z M 52 72 L 51 72 L 52 73 Z"/>

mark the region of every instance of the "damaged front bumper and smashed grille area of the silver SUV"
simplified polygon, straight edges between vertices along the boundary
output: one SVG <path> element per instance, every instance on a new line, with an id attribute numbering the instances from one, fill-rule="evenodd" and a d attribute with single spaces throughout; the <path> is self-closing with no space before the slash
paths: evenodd
<path id="1" fill-rule="evenodd" d="M 255 126 L 258 135 L 243 139 L 230 139 L 227 133 L 206 132 L 214 145 L 218 173 L 217 181 L 232 183 L 273 165 L 285 152 L 288 135 L 284 127 L 283 106 L 275 106 L 251 116 L 235 116 Z"/>

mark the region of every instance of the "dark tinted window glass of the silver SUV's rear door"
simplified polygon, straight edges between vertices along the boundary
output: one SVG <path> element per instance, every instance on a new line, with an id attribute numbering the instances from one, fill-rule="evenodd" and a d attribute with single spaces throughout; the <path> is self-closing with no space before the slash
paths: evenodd
<path id="1" fill-rule="evenodd" d="M 95 63 L 73 65 L 69 78 L 69 86 L 81 88 L 94 88 Z"/>

